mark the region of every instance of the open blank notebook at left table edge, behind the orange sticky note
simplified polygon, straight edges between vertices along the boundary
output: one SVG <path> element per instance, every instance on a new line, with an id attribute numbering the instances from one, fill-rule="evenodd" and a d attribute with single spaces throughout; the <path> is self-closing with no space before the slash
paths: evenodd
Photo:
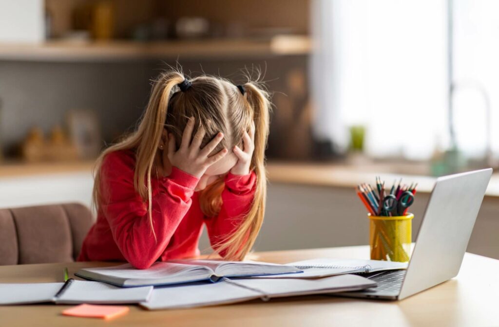
<path id="1" fill-rule="evenodd" d="M 99 282 L 0 284 L 0 305 L 54 302 L 57 304 L 129 304 L 149 300 L 152 286 L 122 289 Z"/>

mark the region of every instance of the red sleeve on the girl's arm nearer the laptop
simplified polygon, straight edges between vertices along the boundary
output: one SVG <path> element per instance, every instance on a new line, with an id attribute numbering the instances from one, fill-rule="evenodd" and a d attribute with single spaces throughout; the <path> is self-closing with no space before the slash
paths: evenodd
<path id="1" fill-rule="evenodd" d="M 233 234 L 246 218 L 253 202 L 255 184 L 254 171 L 247 175 L 234 175 L 230 172 L 227 174 L 220 213 L 206 221 L 212 247 Z M 225 253 L 220 255 L 224 257 Z"/>

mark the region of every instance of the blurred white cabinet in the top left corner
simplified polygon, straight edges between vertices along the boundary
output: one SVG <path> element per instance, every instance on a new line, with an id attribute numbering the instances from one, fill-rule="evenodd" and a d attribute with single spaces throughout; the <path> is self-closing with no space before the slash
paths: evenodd
<path id="1" fill-rule="evenodd" d="M 41 42 L 44 0 L 0 0 L 0 42 Z"/>

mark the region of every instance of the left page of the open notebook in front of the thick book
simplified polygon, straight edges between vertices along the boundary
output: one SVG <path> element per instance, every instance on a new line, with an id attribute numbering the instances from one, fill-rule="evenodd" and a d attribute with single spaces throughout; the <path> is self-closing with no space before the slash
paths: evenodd
<path id="1" fill-rule="evenodd" d="M 196 283 L 155 288 L 151 298 L 140 305 L 149 310 L 214 306 L 258 299 L 262 294 L 227 283 Z"/>

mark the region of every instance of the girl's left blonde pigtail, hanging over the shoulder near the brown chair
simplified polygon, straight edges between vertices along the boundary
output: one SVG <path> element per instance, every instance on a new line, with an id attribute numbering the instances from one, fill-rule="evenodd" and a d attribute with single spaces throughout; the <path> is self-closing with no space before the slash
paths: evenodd
<path id="1" fill-rule="evenodd" d="M 137 132 L 132 134 L 122 142 L 106 149 L 97 159 L 94 167 L 94 188 L 93 188 L 93 203 L 97 206 L 100 200 L 100 168 L 105 156 L 109 153 L 126 150 L 137 149 L 136 164 L 134 175 L 134 187 L 144 201 L 149 205 L 149 222 L 151 230 L 156 238 L 154 226 L 152 222 L 152 193 L 151 193 L 151 171 L 154 165 L 154 158 L 157 153 L 159 142 L 163 129 L 165 128 L 165 120 L 168 110 L 168 102 L 170 101 L 173 88 L 185 80 L 180 72 L 163 73 L 154 81 L 149 103 L 146 111 L 140 121 Z M 146 183 L 144 183 L 144 181 Z"/>

